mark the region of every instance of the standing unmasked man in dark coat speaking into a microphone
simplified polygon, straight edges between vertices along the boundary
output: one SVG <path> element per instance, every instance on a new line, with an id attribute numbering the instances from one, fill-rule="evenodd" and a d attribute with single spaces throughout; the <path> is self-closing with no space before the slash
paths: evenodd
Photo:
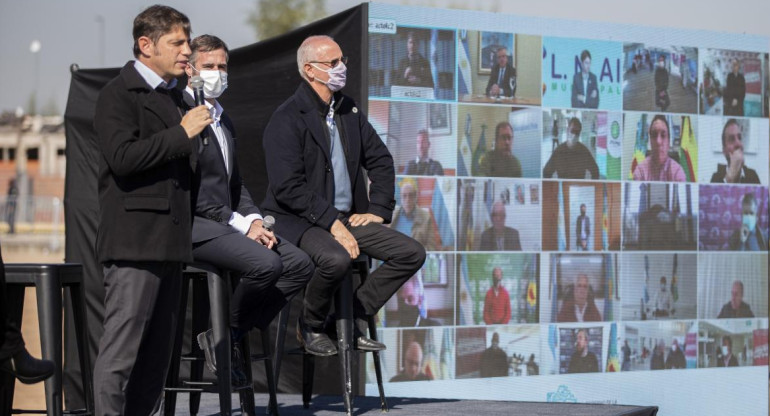
<path id="1" fill-rule="evenodd" d="M 95 414 L 154 413 L 171 359 L 190 239 L 193 140 L 211 116 L 184 114 L 174 89 L 190 56 L 190 20 L 167 6 L 134 19 L 134 56 L 99 94 L 96 252 L 104 268 L 104 335 Z M 84 370 L 85 371 L 85 370 Z"/>

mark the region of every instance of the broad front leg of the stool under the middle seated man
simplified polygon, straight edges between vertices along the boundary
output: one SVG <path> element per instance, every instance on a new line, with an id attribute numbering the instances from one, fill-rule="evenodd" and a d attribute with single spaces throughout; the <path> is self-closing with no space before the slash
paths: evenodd
<path id="1" fill-rule="evenodd" d="M 214 332 L 214 353 L 217 360 L 219 410 L 222 416 L 232 413 L 230 384 L 230 282 L 225 274 L 207 274 L 211 326 Z"/>

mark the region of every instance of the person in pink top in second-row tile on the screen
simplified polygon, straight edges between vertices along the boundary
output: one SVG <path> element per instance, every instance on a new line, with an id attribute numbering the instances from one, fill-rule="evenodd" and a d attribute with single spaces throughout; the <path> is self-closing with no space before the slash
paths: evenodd
<path id="1" fill-rule="evenodd" d="M 664 115 L 653 117 L 649 133 L 650 155 L 634 170 L 634 180 L 684 182 L 686 178 L 682 166 L 668 157 L 671 129 Z"/>

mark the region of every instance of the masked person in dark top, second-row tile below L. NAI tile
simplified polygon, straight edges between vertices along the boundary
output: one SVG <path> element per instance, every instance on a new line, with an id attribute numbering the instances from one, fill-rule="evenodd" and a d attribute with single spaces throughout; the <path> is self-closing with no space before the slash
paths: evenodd
<path id="1" fill-rule="evenodd" d="M 577 117 L 569 120 L 567 140 L 556 147 L 543 168 L 543 177 L 560 179 L 599 179 L 599 167 L 594 156 L 583 143 L 580 132 L 583 124 Z"/>

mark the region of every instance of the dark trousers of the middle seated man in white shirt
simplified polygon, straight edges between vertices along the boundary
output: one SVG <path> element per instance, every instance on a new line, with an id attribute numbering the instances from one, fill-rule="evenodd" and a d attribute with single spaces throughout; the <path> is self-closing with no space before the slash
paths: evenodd
<path id="1" fill-rule="evenodd" d="M 241 275 L 230 301 L 230 326 L 265 328 L 313 276 L 310 257 L 279 237 L 272 250 L 241 233 L 193 245 L 195 261 Z"/>

